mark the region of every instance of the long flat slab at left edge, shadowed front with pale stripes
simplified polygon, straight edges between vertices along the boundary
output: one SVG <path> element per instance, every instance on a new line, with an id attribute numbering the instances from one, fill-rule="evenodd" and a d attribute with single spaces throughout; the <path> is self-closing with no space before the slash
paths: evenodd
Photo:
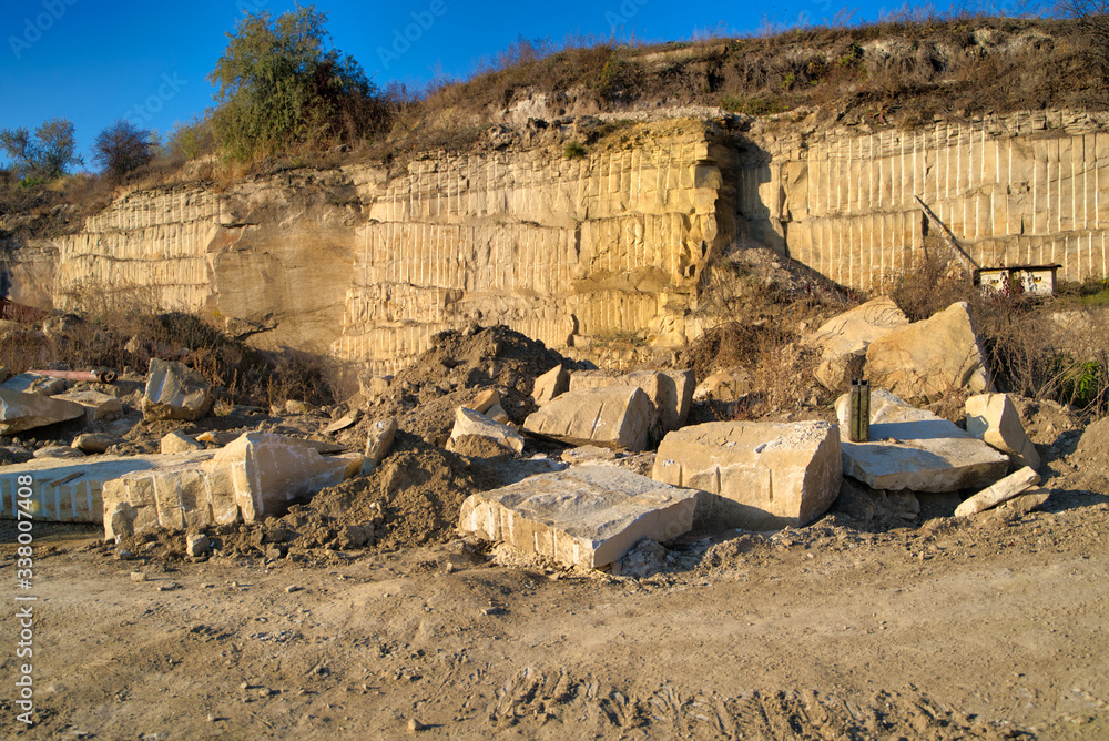
<path id="1" fill-rule="evenodd" d="M 52 522 L 103 521 L 103 488 L 133 471 L 204 460 L 192 456 L 95 456 L 78 460 L 35 459 L 0 467 L 0 517 L 14 519 L 19 477 L 30 476 L 31 512 Z"/>

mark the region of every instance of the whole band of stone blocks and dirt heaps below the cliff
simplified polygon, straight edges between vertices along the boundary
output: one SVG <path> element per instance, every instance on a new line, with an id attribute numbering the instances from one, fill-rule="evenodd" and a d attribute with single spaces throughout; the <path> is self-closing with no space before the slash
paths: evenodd
<path id="1" fill-rule="evenodd" d="M 464 536 L 644 577 L 705 535 L 1020 516 L 1050 495 L 1045 456 L 1078 445 L 1065 407 L 990 390 L 963 304 L 909 324 L 878 298 L 804 342 L 807 383 L 869 375 L 868 439 L 849 439 L 846 395 L 834 418 L 752 419 L 743 367 L 599 370 L 501 326 L 442 333 L 327 407 L 217 404 L 157 357 L 112 384 L 23 373 L 0 384 L 0 507 L 33 473 L 35 517 L 101 524 L 121 552 L 317 562 Z M 942 386 L 966 397 L 962 426 L 922 408 Z M 1082 455 L 1103 456 L 1100 430 Z"/>

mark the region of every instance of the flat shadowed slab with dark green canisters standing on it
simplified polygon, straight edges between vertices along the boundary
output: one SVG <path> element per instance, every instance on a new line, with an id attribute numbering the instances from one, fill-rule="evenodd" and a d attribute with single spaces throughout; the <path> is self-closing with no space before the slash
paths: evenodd
<path id="1" fill-rule="evenodd" d="M 847 395 L 836 400 L 845 417 Z M 874 489 L 957 491 L 989 486 L 1009 458 L 954 424 L 896 396 L 871 394 L 871 441 L 843 443 L 843 473 Z M 846 437 L 846 427 L 841 429 Z"/>

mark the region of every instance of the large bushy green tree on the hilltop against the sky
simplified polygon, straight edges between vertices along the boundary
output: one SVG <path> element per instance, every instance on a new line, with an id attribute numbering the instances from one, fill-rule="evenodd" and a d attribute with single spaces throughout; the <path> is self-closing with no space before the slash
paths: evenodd
<path id="1" fill-rule="evenodd" d="M 216 139 L 240 161 L 301 144 L 327 145 L 384 126 L 386 106 L 362 67 L 330 47 L 315 6 L 276 20 L 248 14 L 208 80 L 217 85 Z"/>

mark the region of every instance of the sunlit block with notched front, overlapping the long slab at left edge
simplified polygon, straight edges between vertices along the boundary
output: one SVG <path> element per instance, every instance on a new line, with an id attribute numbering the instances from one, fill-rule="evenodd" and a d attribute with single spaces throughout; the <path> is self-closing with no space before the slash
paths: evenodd
<path id="1" fill-rule="evenodd" d="M 201 454 L 205 455 L 205 454 Z M 205 463 L 122 476 L 104 487 L 104 537 L 255 522 L 362 469 L 357 454 L 324 457 L 273 433 L 247 433 Z"/>

